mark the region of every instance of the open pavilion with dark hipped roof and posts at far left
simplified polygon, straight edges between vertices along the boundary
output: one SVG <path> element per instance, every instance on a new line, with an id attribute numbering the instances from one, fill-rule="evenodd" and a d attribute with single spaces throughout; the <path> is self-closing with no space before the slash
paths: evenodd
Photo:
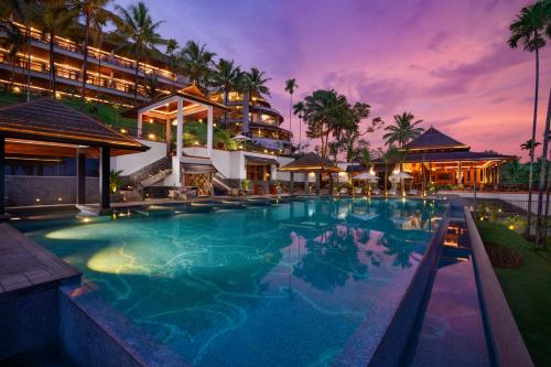
<path id="1" fill-rule="evenodd" d="M 0 217 L 6 214 L 6 156 L 72 156 L 77 162 L 76 204 L 85 204 L 86 159 L 99 159 L 99 211 L 110 208 L 110 156 L 149 148 L 56 101 L 41 98 L 0 108 Z"/>

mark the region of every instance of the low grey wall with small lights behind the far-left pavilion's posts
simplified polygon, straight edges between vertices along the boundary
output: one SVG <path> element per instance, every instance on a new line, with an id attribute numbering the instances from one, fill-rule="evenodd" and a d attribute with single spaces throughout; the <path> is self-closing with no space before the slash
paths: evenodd
<path id="1" fill-rule="evenodd" d="M 86 203 L 99 201 L 99 179 L 86 177 Z M 6 176 L 7 206 L 75 204 L 76 177 Z"/>

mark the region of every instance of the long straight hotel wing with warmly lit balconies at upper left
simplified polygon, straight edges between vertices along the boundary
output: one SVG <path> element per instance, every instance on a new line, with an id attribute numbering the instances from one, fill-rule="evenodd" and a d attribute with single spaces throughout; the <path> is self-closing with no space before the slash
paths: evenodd
<path id="1" fill-rule="evenodd" d="M 21 26 L 24 31 L 23 25 Z M 31 90 L 47 91 L 50 86 L 50 35 L 31 28 L 30 55 L 24 51 L 12 60 L 8 50 L 0 47 L 0 82 L 11 84 L 15 90 L 26 85 L 26 73 L 31 77 Z M 0 32 L 0 37 L 6 33 Z M 88 47 L 87 98 L 101 98 L 108 102 L 128 105 L 133 102 L 136 61 L 118 55 L 117 46 L 104 42 L 101 48 Z M 83 80 L 83 45 L 69 39 L 55 36 L 54 65 L 56 89 L 60 96 L 80 95 Z M 30 61 L 30 67 L 29 67 Z M 11 80 L 14 72 L 14 80 Z M 185 78 L 171 73 L 162 55 L 140 62 L 138 101 L 150 99 L 145 80 L 156 78 L 158 94 L 169 94 L 172 88 L 185 86 Z"/>

